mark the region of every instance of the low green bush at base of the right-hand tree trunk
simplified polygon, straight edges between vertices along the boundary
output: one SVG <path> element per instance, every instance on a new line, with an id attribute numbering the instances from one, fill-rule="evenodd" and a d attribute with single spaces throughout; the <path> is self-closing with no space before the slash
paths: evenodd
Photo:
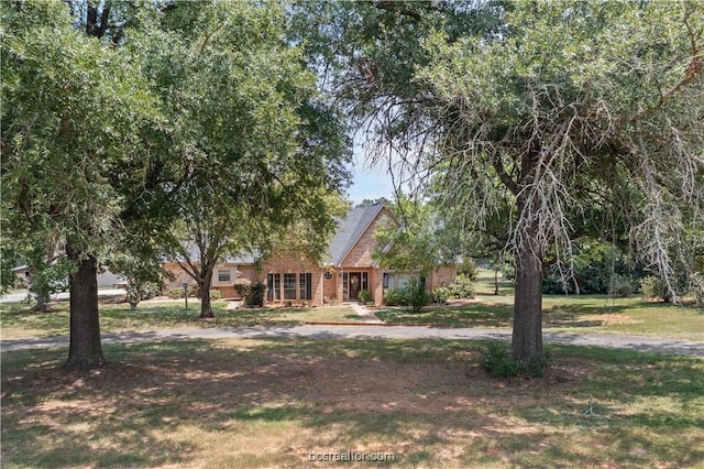
<path id="1" fill-rule="evenodd" d="M 510 343 L 491 340 L 482 348 L 480 366 L 494 378 L 537 378 L 548 369 L 547 355 L 526 361 L 515 360 L 510 355 Z"/>

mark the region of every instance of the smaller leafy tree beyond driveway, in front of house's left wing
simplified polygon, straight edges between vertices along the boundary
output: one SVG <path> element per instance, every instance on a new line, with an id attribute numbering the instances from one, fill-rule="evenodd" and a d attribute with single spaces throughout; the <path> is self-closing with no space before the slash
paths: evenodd
<path id="1" fill-rule="evenodd" d="M 184 163 L 163 242 L 196 282 L 200 317 L 210 318 L 212 273 L 224 255 L 265 252 L 299 219 L 318 228 L 316 238 L 331 231 L 328 195 L 346 184 L 350 145 L 287 41 L 279 4 L 185 4 L 166 24 L 170 52 L 151 68 Z"/>

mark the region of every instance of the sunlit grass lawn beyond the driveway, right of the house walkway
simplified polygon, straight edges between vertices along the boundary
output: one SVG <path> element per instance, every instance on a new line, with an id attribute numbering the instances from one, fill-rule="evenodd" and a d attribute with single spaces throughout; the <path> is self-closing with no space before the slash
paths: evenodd
<path id="1" fill-rule="evenodd" d="M 510 328 L 513 286 L 501 282 L 502 295 L 495 296 L 493 280 L 491 272 L 481 271 L 477 296 L 470 303 L 430 306 L 420 313 L 413 313 L 410 308 L 384 307 L 376 310 L 376 315 L 395 324 Z M 543 295 L 542 305 L 544 330 L 704 340 L 704 310 L 693 306 L 650 303 L 638 295 L 625 298 Z"/>

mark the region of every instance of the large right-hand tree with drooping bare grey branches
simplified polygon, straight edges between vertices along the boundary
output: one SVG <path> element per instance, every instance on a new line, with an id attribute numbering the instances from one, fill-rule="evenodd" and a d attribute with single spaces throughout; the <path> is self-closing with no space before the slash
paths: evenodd
<path id="1" fill-rule="evenodd" d="M 623 222 L 640 259 L 673 279 L 675 258 L 686 261 L 678 249 L 686 246 L 684 207 L 697 220 L 703 214 L 701 4 L 350 9 L 359 20 L 340 17 L 334 32 L 356 41 L 328 58 L 344 55 L 338 63 L 348 72 L 336 84 L 373 122 L 377 159 L 402 181 L 431 182 L 444 204 L 463 207 L 471 229 L 510 201 L 516 360 L 542 357 L 546 250 L 569 264 L 587 204 L 604 209 L 604 229 Z M 438 15 L 446 21 L 433 22 Z M 473 18 L 474 29 L 454 28 L 458 18 Z M 343 45 L 326 35 L 331 29 L 317 31 Z"/>

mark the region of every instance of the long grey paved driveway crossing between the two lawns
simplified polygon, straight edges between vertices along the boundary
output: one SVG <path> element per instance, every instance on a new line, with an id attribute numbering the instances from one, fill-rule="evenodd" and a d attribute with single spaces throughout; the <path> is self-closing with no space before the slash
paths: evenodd
<path id="1" fill-rule="evenodd" d="M 510 331 L 479 328 L 438 328 L 413 326 L 332 326 L 305 325 L 223 329 L 162 329 L 103 334 L 103 343 L 146 342 L 174 339 L 222 338 L 387 338 L 387 339 L 510 339 Z M 704 357 L 704 341 L 675 340 L 657 337 L 615 336 L 606 334 L 543 332 L 547 343 L 592 346 L 678 353 Z M 68 337 L 3 340 L 2 351 L 50 347 L 68 347 Z"/>

